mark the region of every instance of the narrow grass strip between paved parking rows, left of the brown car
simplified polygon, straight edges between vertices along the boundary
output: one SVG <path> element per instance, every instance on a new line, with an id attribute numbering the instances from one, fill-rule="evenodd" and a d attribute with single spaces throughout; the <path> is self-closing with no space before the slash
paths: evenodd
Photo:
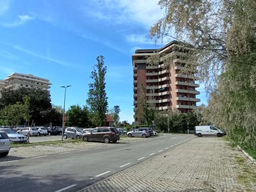
<path id="1" fill-rule="evenodd" d="M 65 140 L 65 141 L 40 141 L 40 142 L 34 142 L 34 143 L 11 143 L 11 147 L 22 147 L 22 146 L 36 146 L 36 145 L 47 145 L 47 144 L 53 144 L 53 145 L 61 145 L 63 143 L 77 143 L 81 142 L 81 139 L 72 139 L 72 140 Z"/>

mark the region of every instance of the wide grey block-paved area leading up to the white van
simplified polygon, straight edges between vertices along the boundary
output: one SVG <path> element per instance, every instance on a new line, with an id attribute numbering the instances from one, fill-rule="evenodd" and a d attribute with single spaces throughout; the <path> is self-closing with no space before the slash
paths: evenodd
<path id="1" fill-rule="evenodd" d="M 256 191 L 256 166 L 223 138 L 197 137 L 81 191 Z"/>

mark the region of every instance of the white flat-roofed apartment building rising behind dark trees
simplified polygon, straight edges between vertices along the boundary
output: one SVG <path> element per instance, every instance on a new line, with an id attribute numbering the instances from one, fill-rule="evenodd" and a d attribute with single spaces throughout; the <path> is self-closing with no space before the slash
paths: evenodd
<path id="1" fill-rule="evenodd" d="M 50 89 L 48 79 L 36 77 L 32 74 L 21 74 L 13 73 L 9 75 L 6 79 L 0 80 L 0 90 L 3 88 L 10 88 L 16 90 L 18 88 L 36 88 L 41 90 Z"/>

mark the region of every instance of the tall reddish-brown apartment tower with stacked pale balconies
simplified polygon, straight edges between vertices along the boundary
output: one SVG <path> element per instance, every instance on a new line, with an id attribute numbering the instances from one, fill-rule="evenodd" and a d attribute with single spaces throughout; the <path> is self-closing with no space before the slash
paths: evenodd
<path id="1" fill-rule="evenodd" d="M 141 83 L 146 88 L 146 102 L 148 104 L 154 102 L 157 110 L 177 109 L 181 113 L 189 113 L 196 108 L 196 102 L 200 101 L 196 98 L 196 95 L 200 94 L 196 91 L 199 84 L 195 83 L 194 74 L 180 73 L 186 65 L 184 60 L 177 57 L 173 60 L 174 67 L 170 68 L 165 67 L 166 63 L 163 63 L 161 58 L 158 65 L 149 66 L 146 63 L 146 57 L 153 54 L 172 54 L 174 51 L 177 53 L 178 44 L 178 41 L 172 41 L 160 49 L 139 49 L 132 55 L 135 110 Z"/>

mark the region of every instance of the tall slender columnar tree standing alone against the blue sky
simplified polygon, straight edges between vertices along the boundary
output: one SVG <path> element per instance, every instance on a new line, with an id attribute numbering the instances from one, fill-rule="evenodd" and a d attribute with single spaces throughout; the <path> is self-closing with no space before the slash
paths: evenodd
<path id="1" fill-rule="evenodd" d="M 94 66 L 90 76 L 94 82 L 89 84 L 88 99 L 86 101 L 93 114 L 92 122 L 101 126 L 105 122 L 105 115 L 108 109 L 108 97 L 106 97 L 105 92 L 106 67 L 104 67 L 103 56 L 98 56 L 96 59 L 98 63 Z"/>

